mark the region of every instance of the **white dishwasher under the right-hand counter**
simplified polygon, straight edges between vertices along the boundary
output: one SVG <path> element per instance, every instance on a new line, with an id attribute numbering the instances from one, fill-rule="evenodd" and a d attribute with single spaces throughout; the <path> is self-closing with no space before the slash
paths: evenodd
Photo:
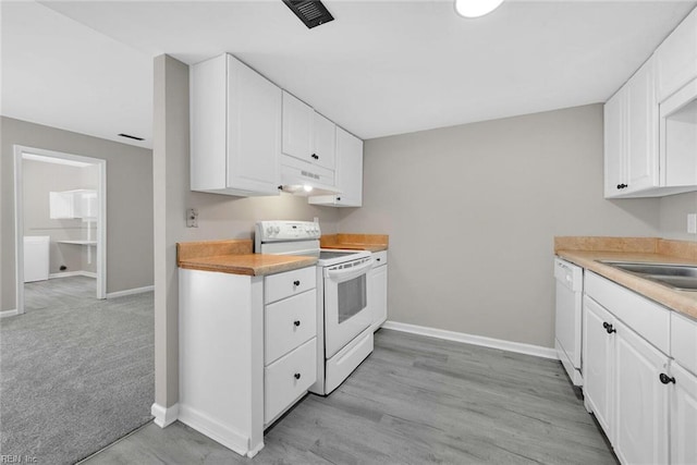
<path id="1" fill-rule="evenodd" d="M 554 258 L 557 281 L 557 320 L 554 347 L 574 386 L 583 386 L 580 366 L 582 309 L 584 270 Z"/>

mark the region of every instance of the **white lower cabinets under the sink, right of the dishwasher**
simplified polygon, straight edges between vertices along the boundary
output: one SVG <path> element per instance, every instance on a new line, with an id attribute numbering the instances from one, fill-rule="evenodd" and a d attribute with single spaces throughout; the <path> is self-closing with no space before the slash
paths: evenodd
<path id="1" fill-rule="evenodd" d="M 672 359 L 684 339 L 668 343 L 670 310 L 592 272 L 585 294 L 584 403 L 617 458 L 697 464 L 697 377 Z"/>

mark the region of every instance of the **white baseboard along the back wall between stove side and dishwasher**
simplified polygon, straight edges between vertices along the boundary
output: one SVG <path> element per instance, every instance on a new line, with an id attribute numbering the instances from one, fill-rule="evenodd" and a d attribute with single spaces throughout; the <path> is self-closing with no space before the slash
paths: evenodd
<path id="1" fill-rule="evenodd" d="M 484 347 L 499 348 L 501 351 L 516 352 L 518 354 L 534 355 L 536 357 L 559 359 L 553 347 L 542 347 L 541 345 L 524 344 L 522 342 L 504 341 L 502 339 L 486 338 L 484 335 L 467 334 L 464 332 L 447 331 L 444 329 L 428 328 L 416 325 L 401 323 L 399 321 L 386 321 L 384 329 L 411 332 L 413 334 L 428 335 L 431 338 L 444 339 L 448 341 L 464 342 L 466 344 L 481 345 Z"/>

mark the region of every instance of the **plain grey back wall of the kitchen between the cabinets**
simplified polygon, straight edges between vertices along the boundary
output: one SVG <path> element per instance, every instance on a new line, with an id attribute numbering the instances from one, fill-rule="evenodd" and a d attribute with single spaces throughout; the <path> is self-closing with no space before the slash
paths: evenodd
<path id="1" fill-rule="evenodd" d="M 338 228 L 390 235 L 390 320 L 551 347 L 554 236 L 659 234 L 602 169 L 601 105 L 371 139 Z"/>

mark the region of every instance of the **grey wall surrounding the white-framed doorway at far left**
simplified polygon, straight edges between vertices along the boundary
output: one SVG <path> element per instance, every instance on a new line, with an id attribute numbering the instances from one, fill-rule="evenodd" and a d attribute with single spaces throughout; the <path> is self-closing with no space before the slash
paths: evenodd
<path id="1" fill-rule="evenodd" d="M 152 284 L 152 152 L 111 140 L 0 118 L 0 310 L 15 306 L 14 151 L 42 148 L 107 160 L 107 292 Z"/>

